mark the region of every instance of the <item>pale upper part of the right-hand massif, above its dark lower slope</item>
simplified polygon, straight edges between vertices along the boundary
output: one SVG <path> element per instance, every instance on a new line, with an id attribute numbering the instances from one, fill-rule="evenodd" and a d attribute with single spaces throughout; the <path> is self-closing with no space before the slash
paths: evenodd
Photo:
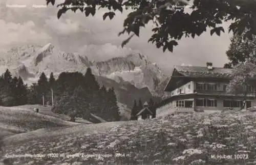
<path id="1" fill-rule="evenodd" d="M 147 87 L 153 93 L 165 77 L 160 68 L 151 63 L 147 56 L 141 53 L 128 54 L 126 57 L 98 62 L 93 70 L 98 75 L 114 80 L 121 77 L 124 81 L 131 82 L 135 87 Z"/>

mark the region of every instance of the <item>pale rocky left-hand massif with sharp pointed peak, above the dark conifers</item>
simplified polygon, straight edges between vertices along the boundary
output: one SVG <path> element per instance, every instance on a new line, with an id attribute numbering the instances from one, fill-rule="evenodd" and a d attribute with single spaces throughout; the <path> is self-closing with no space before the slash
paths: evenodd
<path id="1" fill-rule="evenodd" d="M 60 51 L 51 43 L 45 46 L 17 46 L 1 52 L 0 64 L 1 73 L 8 68 L 14 76 L 22 76 L 28 84 L 36 81 L 42 72 L 47 76 L 51 72 L 56 74 L 63 71 L 84 73 L 92 65 L 87 57 L 82 57 L 78 53 Z"/>

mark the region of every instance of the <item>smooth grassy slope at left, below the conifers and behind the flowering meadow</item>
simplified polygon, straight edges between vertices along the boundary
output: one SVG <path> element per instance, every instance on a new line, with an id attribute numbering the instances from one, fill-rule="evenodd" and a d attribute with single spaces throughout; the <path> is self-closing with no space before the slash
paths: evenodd
<path id="1" fill-rule="evenodd" d="M 28 132 L 40 128 L 52 128 L 78 124 L 63 119 L 63 116 L 59 117 L 55 114 L 52 116 L 43 115 L 40 114 L 41 112 L 34 113 L 32 107 L 29 109 L 26 106 L 0 106 L 0 137 Z"/>

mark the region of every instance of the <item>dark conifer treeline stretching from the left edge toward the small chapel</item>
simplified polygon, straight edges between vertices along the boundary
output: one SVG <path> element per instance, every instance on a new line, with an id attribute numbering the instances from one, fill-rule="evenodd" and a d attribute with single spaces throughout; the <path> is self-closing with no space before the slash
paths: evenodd
<path id="1" fill-rule="evenodd" d="M 53 73 L 48 79 L 42 72 L 37 83 L 30 87 L 24 84 L 21 77 L 12 77 L 8 69 L 0 80 L 2 106 L 42 104 L 43 95 L 44 104 L 52 105 L 53 91 L 55 113 L 83 119 L 89 119 L 92 113 L 106 121 L 120 120 L 114 89 L 100 87 L 90 68 L 84 75 L 79 72 L 62 72 L 57 79 Z"/>

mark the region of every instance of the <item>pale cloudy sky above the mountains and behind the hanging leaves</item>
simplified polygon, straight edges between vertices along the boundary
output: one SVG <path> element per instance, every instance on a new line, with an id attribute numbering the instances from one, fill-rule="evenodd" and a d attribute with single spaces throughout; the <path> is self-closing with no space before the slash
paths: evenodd
<path id="1" fill-rule="evenodd" d="M 63 0 L 56 1 L 56 4 Z M 106 10 L 99 10 L 94 17 L 86 17 L 81 12 L 72 11 L 57 19 L 58 9 L 51 4 L 47 8 L 33 8 L 32 5 L 45 5 L 45 0 L 1 0 L 0 3 L 0 49 L 36 44 L 44 46 L 52 43 L 66 52 L 79 52 L 89 60 L 103 61 L 113 57 L 140 52 L 165 72 L 173 65 L 190 64 L 205 66 L 212 62 L 215 67 L 223 67 L 228 62 L 225 54 L 232 34 L 210 36 L 210 32 L 200 37 L 184 38 L 174 47 L 174 52 L 163 52 L 152 43 L 148 43 L 152 33 L 152 24 L 140 30 L 140 37 L 133 37 L 124 47 L 121 42 L 127 35 L 118 37 L 122 31 L 123 20 L 129 11 L 117 12 L 114 19 L 103 21 Z M 24 8 L 8 5 L 26 5 Z M 223 24 L 227 31 L 228 24 Z"/>

